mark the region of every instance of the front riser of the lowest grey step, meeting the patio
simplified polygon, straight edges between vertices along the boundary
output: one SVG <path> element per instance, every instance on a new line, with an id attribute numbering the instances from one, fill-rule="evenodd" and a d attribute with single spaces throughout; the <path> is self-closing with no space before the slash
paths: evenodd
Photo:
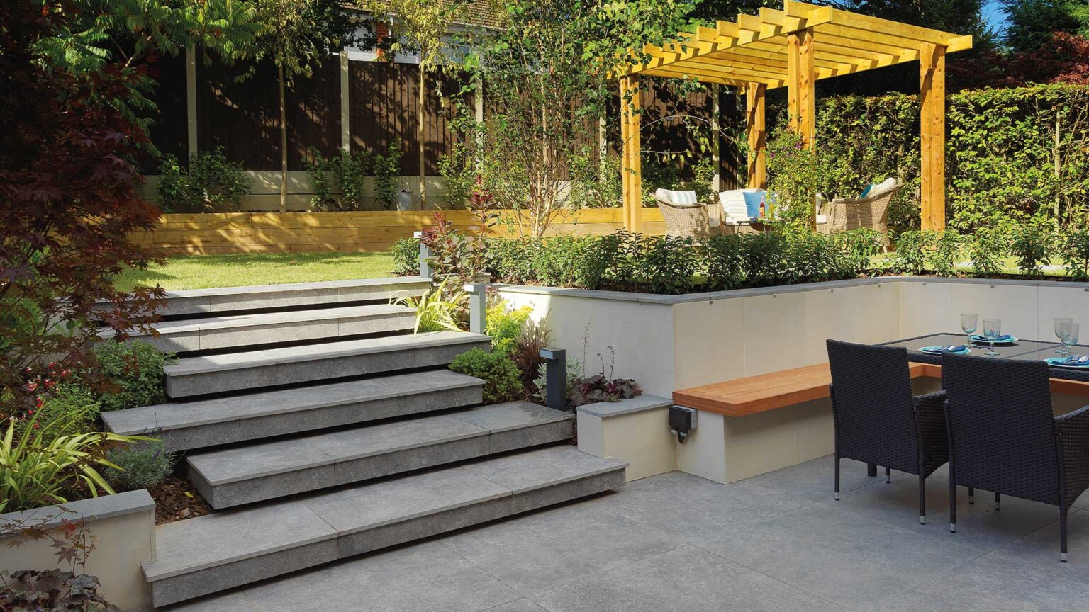
<path id="1" fill-rule="evenodd" d="M 437 536 L 601 493 L 624 485 L 624 468 L 469 505 L 341 534 L 333 538 L 161 578 L 150 583 L 156 608 L 322 563 Z"/>

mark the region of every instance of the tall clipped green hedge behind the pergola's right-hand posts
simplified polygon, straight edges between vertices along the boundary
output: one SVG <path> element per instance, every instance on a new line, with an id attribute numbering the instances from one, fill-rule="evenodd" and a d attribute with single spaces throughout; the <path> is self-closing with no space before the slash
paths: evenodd
<path id="1" fill-rule="evenodd" d="M 918 96 L 823 98 L 817 114 L 818 147 L 830 158 L 821 187 L 853 196 L 874 179 L 898 176 L 907 188 L 893 203 L 890 223 L 918 227 Z M 946 100 L 946 130 L 954 228 L 1089 219 L 1089 86 L 953 94 Z"/>

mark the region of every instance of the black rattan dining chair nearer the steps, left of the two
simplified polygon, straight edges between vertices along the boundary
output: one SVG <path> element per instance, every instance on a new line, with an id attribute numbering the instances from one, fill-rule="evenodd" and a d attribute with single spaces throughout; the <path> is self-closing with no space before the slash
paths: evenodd
<path id="1" fill-rule="evenodd" d="M 828 341 L 835 423 L 835 499 L 840 460 L 883 465 L 919 477 L 919 523 L 927 523 L 927 476 L 949 461 L 945 392 L 913 395 L 907 350 Z M 872 475 L 872 474 L 871 474 Z"/>

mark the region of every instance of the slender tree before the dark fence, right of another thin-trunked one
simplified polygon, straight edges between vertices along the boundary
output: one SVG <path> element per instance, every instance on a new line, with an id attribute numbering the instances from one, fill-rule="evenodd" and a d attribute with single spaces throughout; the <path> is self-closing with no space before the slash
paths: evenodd
<path id="1" fill-rule="evenodd" d="M 416 142 L 419 146 L 419 199 L 427 200 L 424 181 L 426 147 L 424 133 L 424 103 L 427 100 L 428 73 L 435 74 L 451 66 L 451 49 L 446 40 L 450 25 L 463 10 L 462 0 L 360 0 L 363 7 L 392 22 L 392 41 L 388 44 L 390 57 L 396 53 L 416 53 L 419 57 L 419 82 L 416 101 Z"/>

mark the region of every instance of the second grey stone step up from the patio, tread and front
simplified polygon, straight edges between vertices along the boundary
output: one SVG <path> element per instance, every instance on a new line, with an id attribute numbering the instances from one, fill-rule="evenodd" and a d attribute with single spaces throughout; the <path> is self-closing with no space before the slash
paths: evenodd
<path id="1" fill-rule="evenodd" d="M 189 479 L 219 510 L 571 440 L 573 418 L 511 402 L 213 450 L 186 461 Z"/>

